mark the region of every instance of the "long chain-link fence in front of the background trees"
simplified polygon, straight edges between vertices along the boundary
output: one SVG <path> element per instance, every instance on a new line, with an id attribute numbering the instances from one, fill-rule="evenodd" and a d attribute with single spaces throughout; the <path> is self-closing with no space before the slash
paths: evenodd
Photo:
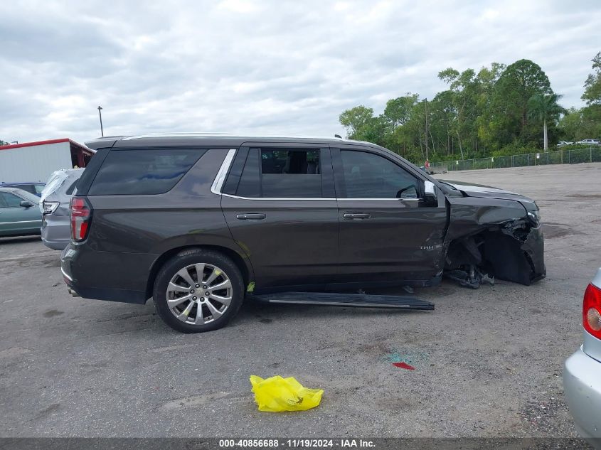
<path id="1" fill-rule="evenodd" d="M 478 168 L 504 168 L 525 166 L 546 166 L 548 164 L 601 163 L 601 146 L 587 149 L 546 151 L 522 155 L 496 156 L 491 158 L 459 159 L 432 163 L 432 168 L 447 171 L 469 171 Z M 436 170 L 438 171 L 438 170 Z"/>

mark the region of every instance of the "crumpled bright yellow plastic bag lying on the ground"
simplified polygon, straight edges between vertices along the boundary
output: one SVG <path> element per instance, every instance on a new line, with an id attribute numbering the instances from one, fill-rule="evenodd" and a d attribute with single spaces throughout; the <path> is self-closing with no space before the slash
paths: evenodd
<path id="1" fill-rule="evenodd" d="M 280 375 L 263 380 L 257 375 L 250 375 L 252 392 L 259 411 L 305 411 L 319 405 L 321 389 L 303 387 L 294 377 L 282 378 Z"/>

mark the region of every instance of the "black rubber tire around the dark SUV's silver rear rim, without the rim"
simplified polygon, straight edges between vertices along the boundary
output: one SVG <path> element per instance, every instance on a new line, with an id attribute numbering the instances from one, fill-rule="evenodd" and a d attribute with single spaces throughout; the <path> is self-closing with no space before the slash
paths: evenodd
<path id="1" fill-rule="evenodd" d="M 232 299 L 229 306 L 225 309 L 223 315 L 214 318 L 208 323 L 194 324 L 181 321 L 171 312 L 167 304 L 167 287 L 169 282 L 171 282 L 171 279 L 177 272 L 191 264 L 211 264 L 218 267 L 231 282 Z M 213 250 L 190 249 L 180 252 L 161 267 L 154 279 L 152 294 L 156 312 L 167 325 L 176 331 L 181 331 L 181 333 L 203 333 L 204 331 L 213 331 L 222 328 L 238 313 L 244 299 L 244 280 L 242 274 L 240 274 L 240 269 L 225 255 Z M 198 310 L 195 311 L 198 314 Z"/>

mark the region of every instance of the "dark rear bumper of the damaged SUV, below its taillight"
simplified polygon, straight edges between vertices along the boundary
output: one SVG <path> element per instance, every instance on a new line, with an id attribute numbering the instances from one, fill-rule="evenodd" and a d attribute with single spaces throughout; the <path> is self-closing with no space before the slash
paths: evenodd
<path id="1" fill-rule="evenodd" d="M 60 255 L 65 283 L 84 299 L 144 304 L 156 255 L 97 252 L 70 242 Z"/>

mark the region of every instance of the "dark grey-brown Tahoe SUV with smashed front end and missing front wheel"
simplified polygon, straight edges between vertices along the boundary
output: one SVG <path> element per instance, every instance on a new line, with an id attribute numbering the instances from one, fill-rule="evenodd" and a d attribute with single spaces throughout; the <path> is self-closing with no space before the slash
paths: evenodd
<path id="1" fill-rule="evenodd" d="M 144 304 L 172 328 L 227 323 L 245 293 L 477 287 L 545 277 L 533 200 L 437 181 L 339 138 L 211 134 L 87 143 L 62 272 L 74 295 Z"/>

